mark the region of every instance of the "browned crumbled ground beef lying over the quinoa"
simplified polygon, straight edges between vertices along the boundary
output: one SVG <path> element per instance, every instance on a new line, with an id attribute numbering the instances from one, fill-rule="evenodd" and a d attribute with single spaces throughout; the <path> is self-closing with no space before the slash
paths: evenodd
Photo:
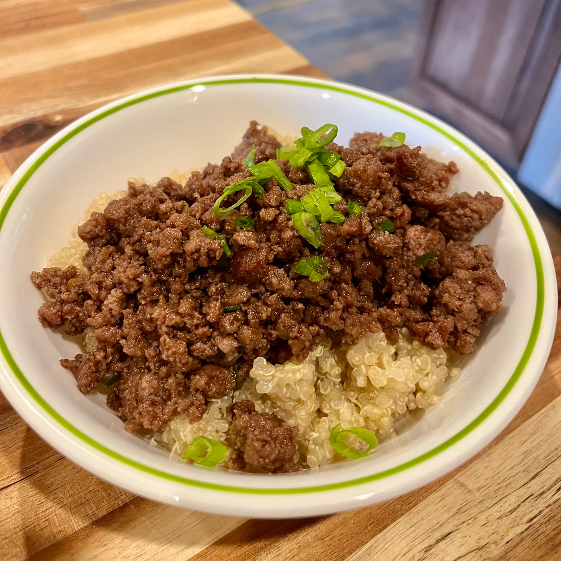
<path id="1" fill-rule="evenodd" d="M 418 146 L 384 148 L 380 139 L 362 133 L 349 148 L 328 146 L 347 165 L 334 180 L 343 196 L 335 210 L 347 214 L 350 200 L 364 210 L 322 224 L 319 251 L 284 207 L 314 188 L 286 160 L 278 164 L 293 190 L 273 179 L 226 218 L 212 211 L 224 188 L 251 176 L 243 160 L 252 149 L 256 163 L 275 158 L 279 142 L 256 122 L 231 155 L 192 173 L 185 186 L 169 177 L 155 186 L 130 183 L 128 196 L 93 213 L 78 230 L 88 246 L 86 273 L 69 266 L 31 275 L 49 298 L 39 309 L 42 324 L 68 335 L 88 329 L 97 342 L 95 351 L 62 360 L 81 392 L 108 387 L 108 405 L 128 431 L 160 430 L 177 413 L 201 419 L 208 400 L 231 392 L 255 357 L 302 360 L 327 338 L 353 344 L 383 329 L 395 341 L 407 327 L 430 346 L 475 350 L 505 286 L 489 247 L 467 242 L 503 201 L 446 194 L 456 164 L 427 158 Z M 236 226 L 240 216 L 254 226 Z M 380 227 L 388 219 L 393 231 Z M 327 278 L 316 283 L 293 272 L 316 254 Z M 232 468 L 297 468 L 296 429 L 245 402 L 231 416 Z"/>

